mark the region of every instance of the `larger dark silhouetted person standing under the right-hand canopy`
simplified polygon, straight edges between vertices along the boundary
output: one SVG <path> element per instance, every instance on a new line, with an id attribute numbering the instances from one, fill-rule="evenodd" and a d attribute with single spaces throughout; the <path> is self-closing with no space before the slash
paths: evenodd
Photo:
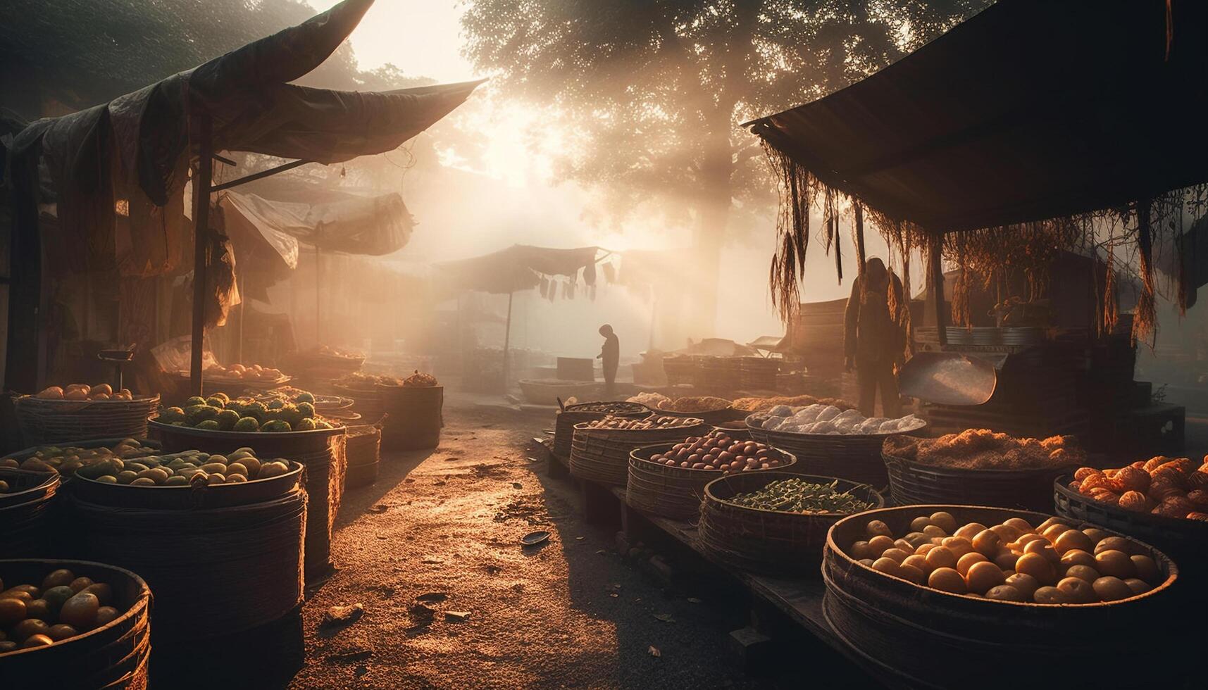
<path id="1" fill-rule="evenodd" d="M 860 392 L 859 407 L 865 417 L 876 411 L 877 389 L 881 389 L 881 410 L 885 417 L 901 417 L 894 366 L 902 363 L 906 334 L 889 309 L 890 292 L 894 303 L 902 305 L 902 284 L 879 259 L 870 259 L 864 273 L 852 284 L 852 297 L 843 314 L 843 354 L 846 369 L 855 366 Z"/>

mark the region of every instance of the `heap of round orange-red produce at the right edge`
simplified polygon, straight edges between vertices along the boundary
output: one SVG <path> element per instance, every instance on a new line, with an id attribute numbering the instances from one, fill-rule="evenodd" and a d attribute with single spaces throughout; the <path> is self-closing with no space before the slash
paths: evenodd
<path id="1" fill-rule="evenodd" d="M 1208 457 L 1198 468 L 1166 456 L 1113 470 L 1080 468 L 1069 488 L 1133 512 L 1208 521 Z"/>

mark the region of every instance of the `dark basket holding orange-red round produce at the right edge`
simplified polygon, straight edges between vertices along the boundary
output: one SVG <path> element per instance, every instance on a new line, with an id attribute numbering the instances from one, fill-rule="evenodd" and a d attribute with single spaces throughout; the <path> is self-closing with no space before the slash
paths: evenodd
<path id="1" fill-rule="evenodd" d="M 1065 475 L 1051 485 L 1057 515 L 1092 522 L 1152 544 L 1179 564 L 1179 572 L 1186 580 L 1180 582 L 1183 586 L 1179 588 L 1189 590 L 1186 593 L 1196 598 L 1208 599 L 1208 595 L 1202 593 L 1204 582 L 1208 582 L 1208 522 L 1125 510 L 1080 494 L 1069 488 L 1071 481 L 1074 477 Z M 1192 587 L 1195 591 L 1191 591 Z"/>

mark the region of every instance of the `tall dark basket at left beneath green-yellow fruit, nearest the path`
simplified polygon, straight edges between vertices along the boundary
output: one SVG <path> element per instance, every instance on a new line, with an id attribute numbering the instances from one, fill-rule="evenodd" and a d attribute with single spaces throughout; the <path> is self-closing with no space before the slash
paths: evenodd
<path id="1" fill-rule="evenodd" d="M 146 579 L 156 593 L 156 644 L 221 638 L 274 621 L 302 602 L 307 498 L 298 487 L 226 508 L 147 509 L 130 508 L 128 497 L 88 498 L 118 500 L 93 503 L 72 489 L 81 549 Z"/>

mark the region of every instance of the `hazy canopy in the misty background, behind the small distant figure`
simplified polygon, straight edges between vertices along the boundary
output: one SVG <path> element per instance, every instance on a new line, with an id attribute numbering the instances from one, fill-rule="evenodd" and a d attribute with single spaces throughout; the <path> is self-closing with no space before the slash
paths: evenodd
<path id="1" fill-rule="evenodd" d="M 451 292 L 476 290 L 506 295 L 530 290 L 541 284 L 541 276 L 577 277 L 583 271 L 583 280 L 596 284 L 597 247 L 577 249 L 551 249 L 513 244 L 507 249 L 436 265 L 437 279 Z"/>

